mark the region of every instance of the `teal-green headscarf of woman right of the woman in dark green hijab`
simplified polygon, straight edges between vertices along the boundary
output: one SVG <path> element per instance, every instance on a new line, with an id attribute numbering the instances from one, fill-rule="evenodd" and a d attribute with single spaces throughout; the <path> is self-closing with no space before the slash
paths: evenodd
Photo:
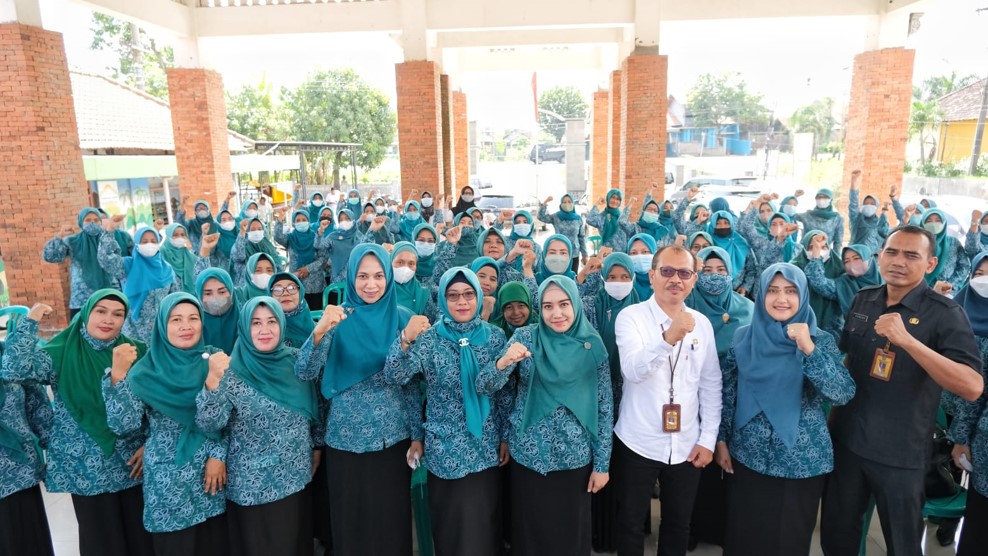
<path id="1" fill-rule="evenodd" d="M 184 466 L 207 438 L 219 440 L 221 434 L 196 426 L 196 396 L 209 374 L 209 360 L 203 357 L 209 353 L 206 344 L 200 337 L 191 348 L 179 349 L 168 341 L 168 317 L 180 303 L 193 305 L 202 318 L 202 306 L 192 295 L 175 292 L 165 296 L 151 328 L 151 349 L 134 364 L 127 380 L 135 396 L 182 426 L 175 464 Z"/>

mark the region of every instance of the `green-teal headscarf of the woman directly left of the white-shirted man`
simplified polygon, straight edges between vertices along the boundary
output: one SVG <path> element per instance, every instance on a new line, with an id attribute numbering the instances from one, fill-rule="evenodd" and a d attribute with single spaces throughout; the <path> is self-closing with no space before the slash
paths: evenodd
<path id="1" fill-rule="evenodd" d="M 563 406 L 573 412 L 587 432 L 597 436 L 597 367 L 607 360 L 600 334 L 583 314 L 583 301 L 576 282 L 566 276 L 551 276 L 539 286 L 539 305 L 547 289 L 558 287 L 573 307 L 573 325 L 558 333 L 539 319 L 532 345 L 534 371 L 521 428 L 527 430 Z"/>

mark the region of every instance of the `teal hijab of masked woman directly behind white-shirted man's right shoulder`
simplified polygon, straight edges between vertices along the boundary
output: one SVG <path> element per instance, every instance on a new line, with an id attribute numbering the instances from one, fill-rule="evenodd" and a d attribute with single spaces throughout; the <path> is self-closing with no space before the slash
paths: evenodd
<path id="1" fill-rule="evenodd" d="M 720 247 L 706 247 L 700 249 L 696 258 L 707 262 L 709 258 L 718 258 L 724 261 L 727 267 L 727 274 L 733 275 L 731 268 L 731 257 Z M 735 292 L 728 283 L 724 291 L 717 295 L 704 292 L 698 285 L 693 286 L 693 291 L 686 298 L 686 306 L 703 313 L 710 321 L 714 329 L 714 341 L 717 344 L 717 356 L 723 358 L 731 348 L 734 334 L 738 328 L 751 324 L 751 314 L 754 310 L 754 303 L 747 297 Z M 723 359 L 721 359 L 723 360 Z"/>

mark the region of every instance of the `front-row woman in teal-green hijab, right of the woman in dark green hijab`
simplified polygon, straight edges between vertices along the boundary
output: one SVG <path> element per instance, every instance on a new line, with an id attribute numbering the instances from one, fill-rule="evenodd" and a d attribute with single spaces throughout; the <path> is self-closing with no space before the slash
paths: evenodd
<path id="1" fill-rule="evenodd" d="M 147 431 L 144 528 L 157 556 L 228 553 L 227 442 L 195 417 L 208 373 L 229 364 L 202 340 L 199 300 L 177 292 L 162 300 L 147 355 L 131 369 L 111 368 L 103 381 L 110 428 Z"/>

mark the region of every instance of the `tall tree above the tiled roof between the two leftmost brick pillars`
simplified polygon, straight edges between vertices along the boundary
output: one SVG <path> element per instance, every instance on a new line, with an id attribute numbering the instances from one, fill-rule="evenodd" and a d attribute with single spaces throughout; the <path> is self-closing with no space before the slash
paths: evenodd
<path id="1" fill-rule="evenodd" d="M 107 66 L 119 79 L 158 98 L 168 98 L 165 69 L 175 64 L 170 46 L 161 46 L 153 37 L 133 23 L 93 13 L 89 28 L 93 33 L 91 50 L 108 50 L 117 55 L 117 64 Z"/>

